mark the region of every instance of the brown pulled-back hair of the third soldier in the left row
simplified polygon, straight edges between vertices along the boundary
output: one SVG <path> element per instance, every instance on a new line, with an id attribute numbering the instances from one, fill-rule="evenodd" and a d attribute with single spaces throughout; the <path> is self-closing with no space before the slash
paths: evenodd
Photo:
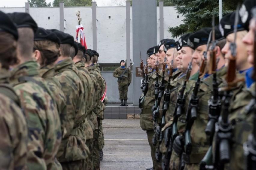
<path id="1" fill-rule="evenodd" d="M 34 41 L 34 51 L 41 53 L 41 65 L 45 66 L 55 62 L 59 57 L 59 44 L 50 40 Z"/>

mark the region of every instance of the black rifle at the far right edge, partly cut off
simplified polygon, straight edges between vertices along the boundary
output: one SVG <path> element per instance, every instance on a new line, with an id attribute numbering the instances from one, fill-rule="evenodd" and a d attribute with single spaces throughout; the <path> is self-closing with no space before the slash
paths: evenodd
<path id="1" fill-rule="evenodd" d="M 253 78 L 256 80 L 256 31 L 254 31 L 254 74 Z M 253 131 L 248 136 L 247 142 L 243 144 L 244 148 L 244 155 L 246 160 L 245 169 L 247 170 L 255 170 L 256 169 L 256 95 L 254 94 L 254 98 L 251 99 L 250 104 L 248 104 L 247 113 L 253 111 L 254 112 L 254 124 L 253 124 Z"/>

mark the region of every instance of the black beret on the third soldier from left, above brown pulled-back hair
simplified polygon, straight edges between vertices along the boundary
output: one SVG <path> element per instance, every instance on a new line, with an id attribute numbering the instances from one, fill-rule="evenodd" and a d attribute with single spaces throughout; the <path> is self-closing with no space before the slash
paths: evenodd
<path id="1" fill-rule="evenodd" d="M 35 32 L 34 40 L 50 40 L 56 42 L 57 44 L 60 44 L 60 40 L 56 36 L 56 34 L 41 27 L 38 27 L 37 31 Z"/>

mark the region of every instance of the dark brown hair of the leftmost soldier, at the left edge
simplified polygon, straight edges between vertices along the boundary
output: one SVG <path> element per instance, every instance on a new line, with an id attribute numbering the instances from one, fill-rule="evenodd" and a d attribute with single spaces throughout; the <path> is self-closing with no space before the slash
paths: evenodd
<path id="1" fill-rule="evenodd" d="M 17 42 L 12 34 L 0 32 L 0 63 L 2 68 L 9 69 L 10 65 L 18 63 Z"/>

